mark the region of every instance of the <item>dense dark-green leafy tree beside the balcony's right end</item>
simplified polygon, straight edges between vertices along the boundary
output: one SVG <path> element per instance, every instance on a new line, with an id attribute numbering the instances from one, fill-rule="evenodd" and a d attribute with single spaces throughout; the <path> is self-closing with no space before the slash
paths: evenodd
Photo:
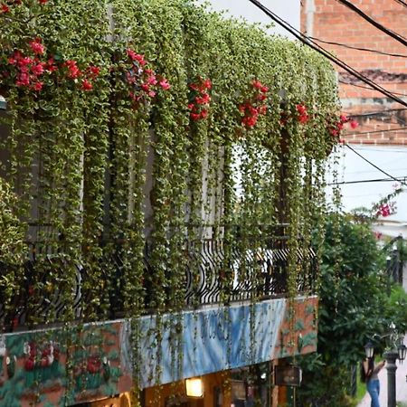
<path id="1" fill-rule="evenodd" d="M 389 325 L 383 253 L 369 225 L 333 214 L 327 224 L 321 264 L 317 354 L 301 361 L 301 405 L 349 406 L 349 366 L 364 357 L 364 345 Z M 339 268 L 336 261 L 340 258 Z"/>

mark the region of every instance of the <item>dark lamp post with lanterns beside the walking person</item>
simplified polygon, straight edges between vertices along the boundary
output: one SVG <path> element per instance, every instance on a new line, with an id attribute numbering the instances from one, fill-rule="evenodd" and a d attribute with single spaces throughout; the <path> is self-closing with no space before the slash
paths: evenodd
<path id="1" fill-rule="evenodd" d="M 402 344 L 402 336 L 397 334 L 396 328 L 392 323 L 390 326 L 391 332 L 386 335 L 389 336 L 389 349 L 384 352 L 383 357 L 386 361 L 387 369 L 387 407 L 396 407 L 396 384 L 395 384 L 395 372 L 397 370 L 396 360 L 399 359 L 402 362 L 405 359 L 407 353 L 406 345 Z M 399 342 L 399 344 L 397 344 Z M 364 352 L 367 358 L 371 358 L 374 355 L 374 345 L 368 342 L 364 345 Z"/>

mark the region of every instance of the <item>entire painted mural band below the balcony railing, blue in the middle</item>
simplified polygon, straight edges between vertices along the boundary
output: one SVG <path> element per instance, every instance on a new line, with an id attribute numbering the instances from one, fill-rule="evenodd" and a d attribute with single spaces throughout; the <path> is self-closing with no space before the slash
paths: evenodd
<path id="1" fill-rule="evenodd" d="M 0 407 L 90 402 L 130 391 L 133 379 L 150 387 L 316 346 L 315 297 L 14 332 L 0 335 Z"/>

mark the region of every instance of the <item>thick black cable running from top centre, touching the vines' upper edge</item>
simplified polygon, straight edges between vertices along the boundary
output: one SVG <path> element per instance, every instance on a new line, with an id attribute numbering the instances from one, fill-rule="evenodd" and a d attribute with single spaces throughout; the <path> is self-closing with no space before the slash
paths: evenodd
<path id="1" fill-rule="evenodd" d="M 375 83 L 373 80 L 369 80 L 366 78 L 362 73 L 356 71 L 354 68 L 350 67 L 347 65 L 345 62 L 339 60 L 336 58 L 332 53 L 327 52 L 323 47 L 321 47 L 319 44 L 313 42 L 310 38 L 307 37 L 307 35 L 300 33 L 296 28 L 294 28 L 292 25 L 287 23 L 286 21 L 282 20 L 279 15 L 274 14 L 273 12 L 270 11 L 265 5 L 262 5 L 258 0 L 249 0 L 253 5 L 256 5 L 260 10 L 264 13 L 267 14 L 271 20 L 275 21 L 277 24 L 281 25 L 285 30 L 287 30 L 289 33 L 291 33 L 293 36 L 298 38 L 298 40 L 301 43 L 304 43 L 308 45 L 308 47 L 312 48 L 314 51 L 321 53 L 324 55 L 329 61 L 335 62 L 336 65 L 340 66 L 343 68 L 345 71 L 348 71 L 352 75 L 354 75 L 356 78 L 359 80 L 362 80 L 364 83 L 367 83 L 369 86 L 371 86 L 374 90 L 378 90 L 381 92 L 383 95 L 387 96 L 389 99 L 393 99 L 394 101 L 400 103 L 402 106 L 407 107 L 407 101 L 404 101 L 397 96 L 393 95 L 392 92 L 389 90 L 385 90 L 383 87 Z"/>

